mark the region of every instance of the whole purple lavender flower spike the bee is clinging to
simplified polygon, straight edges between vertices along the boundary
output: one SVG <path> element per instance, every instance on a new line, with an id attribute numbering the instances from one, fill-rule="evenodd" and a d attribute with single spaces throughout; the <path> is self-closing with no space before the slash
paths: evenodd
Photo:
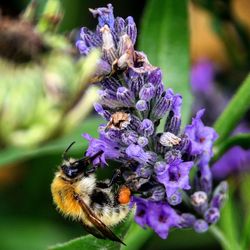
<path id="1" fill-rule="evenodd" d="M 98 25 L 94 32 L 82 28 L 76 46 L 82 55 L 92 48 L 102 51 L 93 80 L 101 86 L 100 101 L 94 107 L 106 123 L 98 139 L 84 134 L 86 154 L 103 152 L 95 166 L 119 163 L 133 193 L 135 221 L 143 228 L 162 238 L 171 228 L 207 231 L 220 217 L 227 190 L 225 182 L 212 187 L 209 161 L 216 132 L 203 124 L 204 110 L 181 130 L 182 96 L 164 89 L 161 70 L 135 50 L 132 17 L 114 18 L 111 4 L 90 11 Z"/>

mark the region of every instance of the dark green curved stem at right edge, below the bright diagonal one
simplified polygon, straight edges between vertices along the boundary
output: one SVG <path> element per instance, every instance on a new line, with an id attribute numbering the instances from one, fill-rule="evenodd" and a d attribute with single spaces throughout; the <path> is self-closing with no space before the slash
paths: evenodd
<path id="1" fill-rule="evenodd" d="M 223 154 L 234 146 L 250 149 L 250 134 L 238 134 L 223 141 L 214 148 L 213 162 L 217 161 Z"/>

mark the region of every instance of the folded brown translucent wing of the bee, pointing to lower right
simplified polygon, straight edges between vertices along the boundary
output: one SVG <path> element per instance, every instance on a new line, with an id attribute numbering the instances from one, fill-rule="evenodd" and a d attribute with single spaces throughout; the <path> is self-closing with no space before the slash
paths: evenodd
<path id="1" fill-rule="evenodd" d="M 86 230 L 96 236 L 97 238 L 108 238 L 113 241 L 117 241 L 125 245 L 120 238 L 118 238 L 97 216 L 91 211 L 91 209 L 86 205 L 83 199 L 75 194 L 75 198 L 79 202 L 82 210 L 88 217 L 89 221 L 94 225 L 94 228 L 90 229 L 90 227 L 86 226 Z"/>

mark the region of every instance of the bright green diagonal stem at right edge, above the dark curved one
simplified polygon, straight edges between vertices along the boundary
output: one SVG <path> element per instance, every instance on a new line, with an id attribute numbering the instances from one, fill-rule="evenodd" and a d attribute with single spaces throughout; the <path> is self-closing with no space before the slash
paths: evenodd
<path id="1" fill-rule="evenodd" d="M 215 145 L 221 144 L 234 130 L 246 111 L 249 109 L 250 100 L 250 75 L 240 86 L 234 97 L 227 105 L 224 112 L 214 124 L 216 132 L 219 134 Z"/>

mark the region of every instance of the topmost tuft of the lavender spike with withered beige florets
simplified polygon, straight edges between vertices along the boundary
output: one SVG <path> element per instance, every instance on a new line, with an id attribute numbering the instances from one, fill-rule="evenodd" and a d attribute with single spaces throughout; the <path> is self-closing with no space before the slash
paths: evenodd
<path id="1" fill-rule="evenodd" d="M 117 70 L 127 68 L 145 72 L 144 67 L 137 66 L 139 64 L 145 65 L 150 71 L 154 70 L 143 53 L 134 51 L 137 29 L 131 16 L 125 20 L 121 17 L 114 18 L 111 4 L 107 7 L 90 9 L 90 12 L 98 18 L 96 31 L 82 28 L 76 47 L 84 56 L 88 55 L 93 48 L 100 48 L 103 53 L 98 71 L 92 81 L 98 82 Z"/>

